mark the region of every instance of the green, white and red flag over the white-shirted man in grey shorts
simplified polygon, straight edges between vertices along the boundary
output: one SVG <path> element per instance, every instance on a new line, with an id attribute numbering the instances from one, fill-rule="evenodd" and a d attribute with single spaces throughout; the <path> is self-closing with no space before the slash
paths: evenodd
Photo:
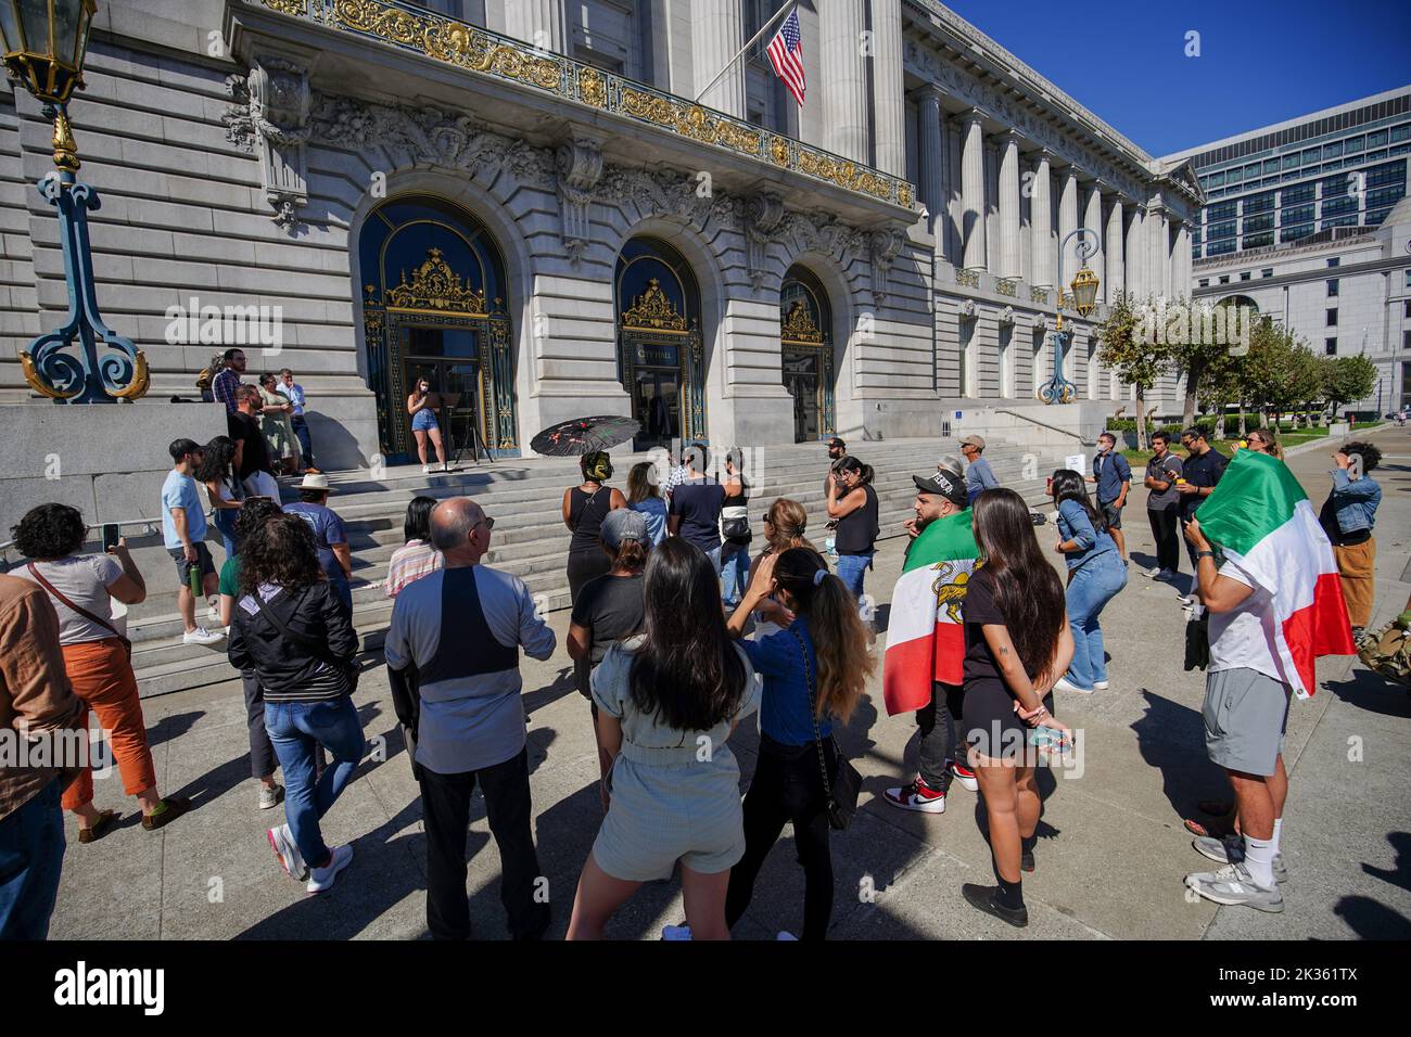
<path id="1" fill-rule="evenodd" d="M 1283 461 L 1240 450 L 1197 512 L 1201 532 L 1273 600 L 1274 622 L 1240 655 L 1267 650 L 1300 698 L 1316 690 L 1318 656 L 1353 655 L 1352 624 L 1328 535 Z M 1213 632 L 1212 632 L 1213 636 Z M 1230 629 L 1226 636 L 1236 636 Z"/>

